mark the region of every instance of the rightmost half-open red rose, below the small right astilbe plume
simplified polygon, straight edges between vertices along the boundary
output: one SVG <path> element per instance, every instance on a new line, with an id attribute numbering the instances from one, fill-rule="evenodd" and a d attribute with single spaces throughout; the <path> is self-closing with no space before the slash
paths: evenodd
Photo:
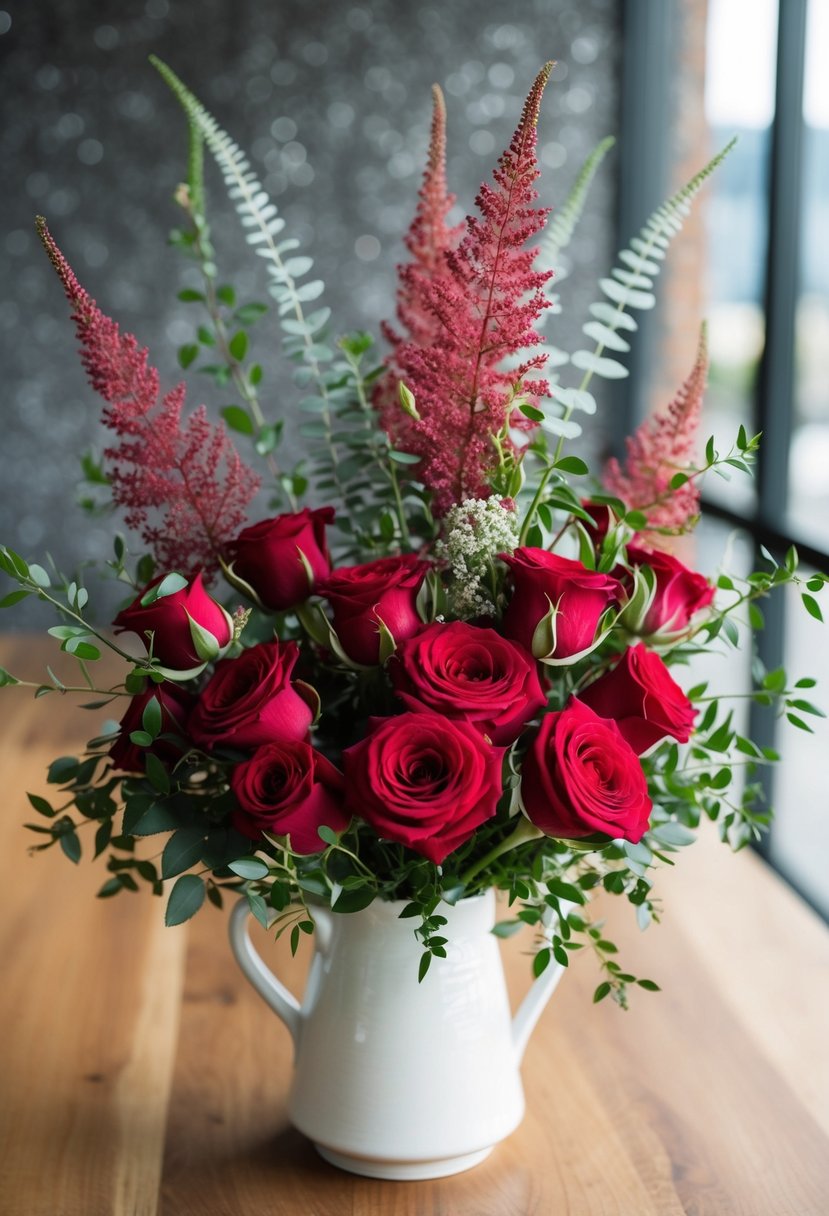
<path id="1" fill-rule="evenodd" d="M 676 641 L 711 603 L 714 586 L 670 553 L 649 553 L 630 545 L 627 557 L 635 576 L 627 575 L 632 591 L 624 625 L 654 641 Z"/>

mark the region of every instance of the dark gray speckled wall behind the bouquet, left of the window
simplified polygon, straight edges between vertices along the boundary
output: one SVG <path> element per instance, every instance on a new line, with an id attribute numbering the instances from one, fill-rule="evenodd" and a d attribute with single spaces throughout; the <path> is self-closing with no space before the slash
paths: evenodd
<path id="1" fill-rule="evenodd" d="M 266 188 L 317 261 L 338 330 L 377 330 L 390 314 L 394 266 L 427 143 L 429 85 L 449 106 L 449 175 L 464 210 L 509 139 L 540 64 L 559 61 L 545 98 L 545 203 L 560 201 L 590 147 L 617 117 L 614 0 L 349 5 L 306 0 L 0 0 L 0 539 L 66 569 L 108 554 L 111 520 L 74 506 L 78 455 L 102 446 L 62 292 L 40 250 L 47 216 L 81 282 L 147 344 L 163 384 L 192 313 L 176 292 L 193 270 L 167 247 L 184 175 L 185 124 L 147 62 L 157 52 L 250 153 Z M 594 188 L 575 249 L 593 268 L 613 254 L 613 168 Z M 222 277 L 263 295 L 219 174 L 209 215 Z M 587 299 L 592 298 L 587 295 Z M 291 416 L 267 322 L 256 355 L 264 404 Z M 281 389 L 284 388 L 284 393 Z M 202 377 L 190 401 L 226 404 Z M 28 621 L 6 613 L 0 624 Z"/>

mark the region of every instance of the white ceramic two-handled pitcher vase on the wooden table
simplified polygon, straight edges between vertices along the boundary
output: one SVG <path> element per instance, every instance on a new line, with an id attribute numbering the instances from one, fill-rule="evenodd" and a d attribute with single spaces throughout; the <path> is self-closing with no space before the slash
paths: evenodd
<path id="1" fill-rule="evenodd" d="M 404 907 L 312 910 L 316 951 L 301 1003 L 252 945 L 244 899 L 230 938 L 294 1041 L 294 1126 L 354 1173 L 436 1178 L 476 1165 L 521 1121 L 521 1055 L 563 968 L 551 963 L 512 1017 L 489 891 L 440 905 L 447 957 L 418 984 L 419 922 L 401 921 Z"/>

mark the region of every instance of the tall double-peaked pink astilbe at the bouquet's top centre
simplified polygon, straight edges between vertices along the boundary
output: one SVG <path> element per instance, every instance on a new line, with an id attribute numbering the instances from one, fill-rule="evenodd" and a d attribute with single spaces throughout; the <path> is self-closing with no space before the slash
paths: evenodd
<path id="1" fill-rule="evenodd" d="M 546 355 L 529 355 L 509 368 L 503 365 L 507 356 L 540 343 L 534 325 L 548 306 L 542 288 L 549 272 L 532 269 L 536 250 L 524 246 L 548 214 L 532 203 L 538 176 L 536 123 L 551 69 L 552 63 L 546 64 L 530 90 L 494 185 L 480 188 L 475 202 L 481 218 L 467 219 L 457 247 L 451 241 L 433 246 L 430 269 L 416 260 L 401 276 L 399 316 L 410 338 L 396 344 L 389 365 L 393 381 L 402 381 L 414 394 L 419 417 L 397 420 L 388 429 L 395 443 L 421 457 L 417 477 L 433 491 L 438 516 L 463 499 L 489 496 L 496 463 L 492 435 L 509 424 L 518 394 L 548 390 L 545 381 L 528 378 L 543 366 Z M 441 168 L 434 180 L 427 170 L 423 215 L 418 208 L 410 233 L 416 258 L 421 242 L 428 247 L 434 241 L 435 229 L 423 216 L 441 215 L 439 199 L 446 199 L 442 135 L 436 147 Z M 508 438 L 504 444 L 509 447 Z"/>

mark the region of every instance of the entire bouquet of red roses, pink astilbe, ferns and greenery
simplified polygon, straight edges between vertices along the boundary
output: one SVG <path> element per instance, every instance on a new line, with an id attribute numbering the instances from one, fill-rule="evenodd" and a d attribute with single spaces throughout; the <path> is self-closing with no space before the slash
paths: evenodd
<path id="1" fill-rule="evenodd" d="M 446 953 L 441 901 L 495 886 L 514 910 L 497 931 L 534 927 L 536 974 L 588 946 L 602 969 L 596 1000 L 625 1006 L 631 985 L 656 985 L 615 959 L 592 895 L 626 899 L 644 928 L 658 917 L 655 872 L 700 820 L 734 849 L 769 820 L 752 776 L 776 755 L 677 669 L 738 646 L 735 614 L 762 627 L 756 602 L 778 586 L 800 584 L 819 617 L 824 582 L 802 580 L 789 552 L 748 579 L 721 574 L 717 590 L 673 552 L 698 520 L 701 477 L 748 472 L 758 441 L 740 428 L 729 451 L 709 440 L 698 452 L 704 331 L 688 379 L 628 439 L 624 463 L 591 479 L 566 451 L 577 418 L 597 410 L 593 382 L 626 375 L 635 314 L 654 305 L 671 238 L 728 148 L 620 253 L 583 325 L 588 342 L 565 353 L 542 325 L 562 310 L 564 250 L 613 141 L 548 223 L 535 157 L 548 64 L 476 214 L 453 227 L 435 89 L 396 320 L 376 359 L 365 333 L 331 342 L 311 258 L 283 235 L 241 150 L 156 67 L 190 130 L 173 243 L 201 275 L 180 299 L 202 316 L 179 361 L 237 402 L 214 424 L 203 406 L 185 413 L 184 384 L 159 399 L 147 351 L 97 308 L 38 220 L 112 433 L 85 472 L 141 544 L 131 553 L 114 537 L 108 565 L 130 586 L 114 636 L 78 579 L 0 550 L 17 584 L 2 606 L 52 604 L 61 624 L 50 634 L 79 668 L 74 686 L 50 669 L 35 696 L 80 693 L 113 717 L 84 755 L 51 765 L 60 807 L 29 795 L 35 848 L 57 844 L 78 862 L 91 834 L 83 849 L 106 855 L 101 897 L 142 883 L 167 891 L 170 925 L 243 893 L 294 950 L 315 903 L 348 914 L 402 900 L 421 978 Z M 263 258 L 267 305 L 238 300 L 219 277 L 204 148 Z M 249 354 L 265 320 L 301 394 L 310 454 L 293 468 Z M 260 479 L 229 430 L 267 471 L 270 514 L 255 523 L 246 512 Z M 306 494 L 316 505 L 301 505 Z M 115 682 L 94 674 L 105 649 L 122 664 Z M 819 713 L 803 699 L 812 680 L 790 686 L 756 666 L 755 679 L 752 696 L 795 725 Z M 0 682 L 26 683 L 7 671 Z"/>

